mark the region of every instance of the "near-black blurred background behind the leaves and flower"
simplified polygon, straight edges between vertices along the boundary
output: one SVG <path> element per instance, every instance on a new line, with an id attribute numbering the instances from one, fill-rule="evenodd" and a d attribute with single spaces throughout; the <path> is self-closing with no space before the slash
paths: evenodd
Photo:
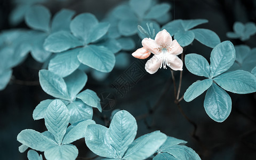
<path id="1" fill-rule="evenodd" d="M 26 28 L 25 22 L 18 26 L 9 25 L 8 17 L 13 8 L 12 1 L 0 1 L 0 29 Z M 52 15 L 63 7 L 79 13 L 91 12 L 98 19 L 119 2 L 117 0 L 77 0 L 77 1 L 49 1 L 47 6 Z M 221 41 L 230 40 L 234 45 L 246 44 L 255 47 L 255 35 L 249 41 L 241 42 L 226 37 L 227 31 L 233 30 L 235 21 L 255 22 L 256 1 L 245 0 L 176 0 L 161 1 L 171 3 L 170 13 L 174 19 L 207 19 L 209 23 L 199 26 L 215 31 Z M 140 45 L 139 43 L 137 44 Z M 185 54 L 197 53 L 207 60 L 212 49 L 196 41 L 186 48 Z M 132 51 L 130 52 L 130 54 Z M 140 62 L 130 57 L 131 65 Z M 143 62 L 145 63 L 145 62 Z M 256 62 L 255 62 L 256 63 Z M 41 64 L 28 57 L 21 65 L 13 68 L 13 77 L 20 81 L 11 80 L 4 91 L 0 91 L 0 159 L 26 159 L 26 153 L 19 153 L 21 145 L 17 141 L 18 133 L 23 129 L 34 129 L 39 132 L 46 130 L 44 121 L 34 121 L 32 113 L 36 105 L 42 100 L 51 98 L 41 89 L 38 82 L 38 70 Z M 143 65 L 140 66 L 143 70 Z M 129 111 L 138 123 L 137 137 L 155 130 L 179 139 L 188 141 L 187 146 L 193 148 L 202 159 L 255 159 L 256 158 L 256 94 L 233 94 L 232 111 L 225 122 L 214 122 L 205 113 L 203 100 L 205 93 L 192 102 L 180 102 L 185 115 L 196 124 L 197 129 L 182 115 L 174 103 L 173 83 L 170 70 L 160 69 L 156 74 L 146 74 L 121 97 L 111 87 L 115 80 L 124 75 L 125 70 L 114 69 L 105 81 L 97 82 L 90 74 L 85 89 L 92 89 L 101 95 L 103 92 L 113 95 L 115 107 L 105 109 L 102 114 L 94 110 L 93 119 L 103 125 L 108 125 L 109 116 L 113 109 Z M 181 95 L 188 86 L 202 79 L 189 73 L 183 68 Z M 175 72 L 176 84 L 179 81 L 179 71 Z M 150 109 L 154 108 L 154 109 Z M 195 135 L 193 132 L 195 131 Z M 78 157 L 93 157 L 86 148 L 84 140 L 78 140 L 75 145 L 79 149 Z M 79 158 L 78 158 L 79 159 Z"/>

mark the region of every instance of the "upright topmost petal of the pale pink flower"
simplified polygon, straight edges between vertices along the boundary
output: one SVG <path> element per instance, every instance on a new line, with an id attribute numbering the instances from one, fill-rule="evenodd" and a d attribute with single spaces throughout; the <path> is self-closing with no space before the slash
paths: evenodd
<path id="1" fill-rule="evenodd" d="M 172 36 L 167 30 L 161 30 L 156 34 L 155 42 L 162 47 L 170 47 L 172 44 Z"/>

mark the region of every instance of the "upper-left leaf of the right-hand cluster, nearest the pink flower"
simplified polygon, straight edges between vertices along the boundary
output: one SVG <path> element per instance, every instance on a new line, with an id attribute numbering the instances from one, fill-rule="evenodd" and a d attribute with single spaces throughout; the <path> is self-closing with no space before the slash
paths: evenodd
<path id="1" fill-rule="evenodd" d="M 210 78 L 211 70 L 209 62 L 202 55 L 195 53 L 186 54 L 185 65 L 194 75 Z"/>

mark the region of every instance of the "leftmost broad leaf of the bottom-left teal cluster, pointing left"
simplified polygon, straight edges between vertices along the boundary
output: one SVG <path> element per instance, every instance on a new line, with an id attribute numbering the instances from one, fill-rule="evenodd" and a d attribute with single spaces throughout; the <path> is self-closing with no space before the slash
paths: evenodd
<path id="1" fill-rule="evenodd" d="M 17 140 L 23 145 L 39 151 L 45 151 L 47 148 L 57 145 L 55 141 L 45 137 L 42 133 L 30 129 L 21 131 Z"/>

